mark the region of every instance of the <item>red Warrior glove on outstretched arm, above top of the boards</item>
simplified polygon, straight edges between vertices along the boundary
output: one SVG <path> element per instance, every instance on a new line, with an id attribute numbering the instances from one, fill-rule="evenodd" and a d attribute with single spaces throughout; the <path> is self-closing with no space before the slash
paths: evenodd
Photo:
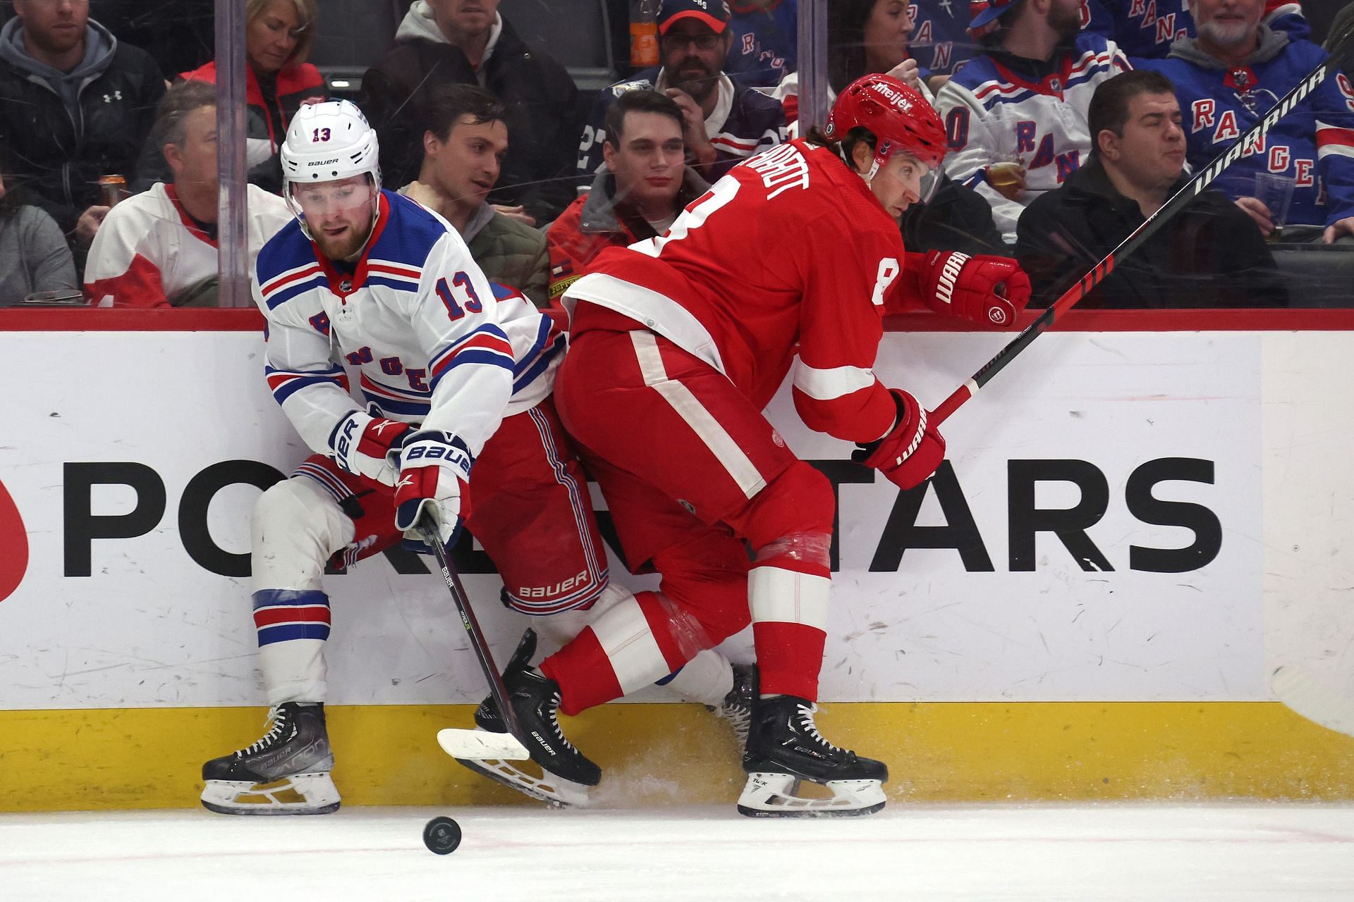
<path id="1" fill-rule="evenodd" d="M 1009 326 L 1029 303 L 1029 276 L 1014 260 L 932 250 L 926 266 L 922 299 L 937 314 Z"/>

